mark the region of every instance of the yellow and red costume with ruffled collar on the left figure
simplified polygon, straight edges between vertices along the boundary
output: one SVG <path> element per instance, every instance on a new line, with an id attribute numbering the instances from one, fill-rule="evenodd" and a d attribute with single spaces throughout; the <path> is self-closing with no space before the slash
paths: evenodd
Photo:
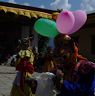
<path id="1" fill-rule="evenodd" d="M 20 50 L 19 61 L 16 65 L 17 75 L 11 90 L 11 96 L 33 96 L 31 87 L 26 83 L 26 79 L 34 72 L 33 54 L 30 50 Z"/>

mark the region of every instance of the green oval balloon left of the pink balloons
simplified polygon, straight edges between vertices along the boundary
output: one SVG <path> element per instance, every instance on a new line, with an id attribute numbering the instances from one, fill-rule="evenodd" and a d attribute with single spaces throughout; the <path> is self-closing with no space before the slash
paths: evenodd
<path id="1" fill-rule="evenodd" d="M 58 35 L 56 23 L 49 19 L 38 19 L 34 24 L 34 30 L 42 36 L 55 37 Z"/>

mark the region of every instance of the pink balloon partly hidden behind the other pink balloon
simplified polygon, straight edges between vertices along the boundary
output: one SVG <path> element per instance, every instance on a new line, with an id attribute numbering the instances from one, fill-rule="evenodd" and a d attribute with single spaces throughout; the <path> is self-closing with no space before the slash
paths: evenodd
<path id="1" fill-rule="evenodd" d="M 72 34 L 76 31 L 78 31 L 85 24 L 85 22 L 87 20 L 87 14 L 86 14 L 86 12 L 84 12 L 82 10 L 78 10 L 78 11 L 75 11 L 72 13 L 75 18 L 75 23 L 74 23 L 72 30 L 69 32 L 69 34 Z"/>

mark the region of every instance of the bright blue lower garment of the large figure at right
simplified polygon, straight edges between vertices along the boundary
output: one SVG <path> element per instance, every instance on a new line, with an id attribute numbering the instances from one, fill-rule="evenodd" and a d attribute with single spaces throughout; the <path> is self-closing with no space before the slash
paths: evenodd
<path id="1" fill-rule="evenodd" d="M 95 79 L 91 85 L 88 83 L 73 83 L 64 80 L 64 84 L 61 89 L 61 93 L 57 96 L 94 96 L 95 91 Z"/>

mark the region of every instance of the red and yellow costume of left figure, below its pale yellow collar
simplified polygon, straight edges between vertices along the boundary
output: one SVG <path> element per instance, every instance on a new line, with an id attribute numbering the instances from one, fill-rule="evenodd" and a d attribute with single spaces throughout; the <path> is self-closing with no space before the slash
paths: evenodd
<path id="1" fill-rule="evenodd" d="M 25 94 L 25 96 L 33 96 L 31 88 L 25 82 L 26 78 L 29 78 L 34 72 L 34 67 L 29 62 L 29 58 L 21 58 L 16 66 L 16 70 L 18 72 L 11 90 L 11 96 L 21 96 L 19 89 Z"/>

